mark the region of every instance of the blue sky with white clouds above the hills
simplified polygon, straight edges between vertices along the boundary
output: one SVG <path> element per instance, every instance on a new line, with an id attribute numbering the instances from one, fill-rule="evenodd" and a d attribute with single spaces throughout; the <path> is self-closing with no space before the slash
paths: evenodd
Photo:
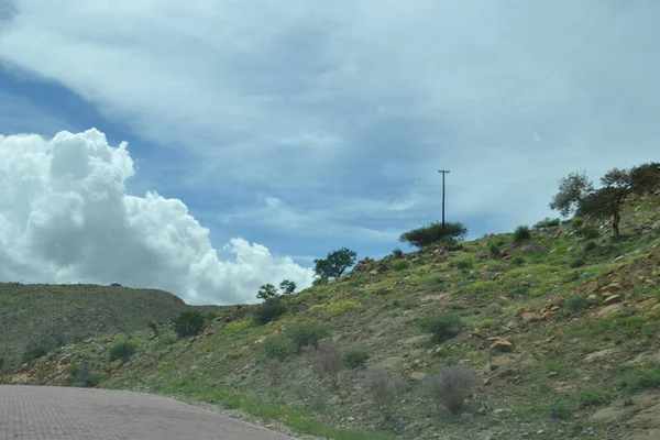
<path id="1" fill-rule="evenodd" d="M 0 282 L 188 304 L 658 161 L 654 0 L 0 0 Z"/>

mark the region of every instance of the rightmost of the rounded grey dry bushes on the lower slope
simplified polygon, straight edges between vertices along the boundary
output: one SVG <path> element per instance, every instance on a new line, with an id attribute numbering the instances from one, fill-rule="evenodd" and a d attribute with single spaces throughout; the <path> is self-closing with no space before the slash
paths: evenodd
<path id="1" fill-rule="evenodd" d="M 444 405 L 452 414 L 463 410 L 465 397 L 472 393 L 475 381 L 474 371 L 461 364 L 444 366 L 438 374 L 426 380 L 431 398 L 438 406 Z"/>

